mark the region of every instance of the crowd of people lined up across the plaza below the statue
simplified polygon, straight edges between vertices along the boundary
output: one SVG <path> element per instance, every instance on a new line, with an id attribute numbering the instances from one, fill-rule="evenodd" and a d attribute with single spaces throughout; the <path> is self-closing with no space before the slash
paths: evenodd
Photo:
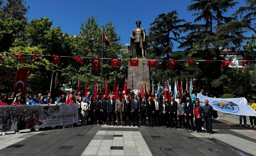
<path id="1" fill-rule="evenodd" d="M 199 94 L 203 94 L 203 89 L 201 89 Z M 148 93 L 146 98 L 142 98 L 139 92 L 137 94 L 131 94 L 130 89 L 128 89 L 125 100 L 121 97 L 121 91 L 119 91 L 120 96 L 115 97 L 116 95 L 114 92 L 106 95 L 99 90 L 99 93 L 96 94 L 96 98 L 94 99 L 90 91 L 83 96 L 81 92 L 73 93 L 73 90 L 70 90 L 70 93 L 66 96 L 61 94 L 58 97 L 52 98 L 51 93 L 48 93 L 44 97 L 41 93 L 38 95 L 33 94 L 32 96 L 30 94 L 22 96 L 20 92 L 16 97 L 13 94 L 10 96 L 2 94 L 0 105 L 56 104 L 57 106 L 77 103 L 79 106 L 78 119 L 81 122 L 81 126 L 162 126 L 162 128 L 170 127 L 202 132 L 202 123 L 205 123 L 206 132 L 212 134 L 212 117 L 219 119 L 217 112 L 208 104 L 208 100 L 201 102 L 197 98 L 197 92 L 190 94 L 184 91 L 182 97 L 180 97 L 178 92 L 176 97 L 174 97 L 171 91 L 170 100 L 164 97 L 164 91 L 160 92 L 159 97 L 150 96 Z M 256 108 L 256 104 L 252 100 L 250 100 L 249 104 L 251 107 Z M 48 109 L 44 111 L 47 112 Z M 7 114 L 1 113 L 0 135 L 5 135 L 6 131 L 12 130 L 15 131 L 15 134 L 19 134 L 19 130 L 25 128 L 36 131 L 34 125 L 37 122 L 38 114 L 38 110 L 26 110 L 25 112 L 16 110 L 9 111 Z M 202 122 L 202 119 L 204 119 L 204 122 Z M 139 121 L 141 121 L 141 125 Z M 240 124 L 241 121 L 242 118 L 240 117 Z M 250 117 L 250 122 L 251 127 L 254 124 L 256 128 L 255 117 Z M 70 128 L 73 126 L 77 126 L 77 123 L 67 125 L 66 127 Z M 63 126 L 56 127 L 63 128 Z M 45 127 L 43 129 L 47 130 L 49 128 L 51 127 Z"/>

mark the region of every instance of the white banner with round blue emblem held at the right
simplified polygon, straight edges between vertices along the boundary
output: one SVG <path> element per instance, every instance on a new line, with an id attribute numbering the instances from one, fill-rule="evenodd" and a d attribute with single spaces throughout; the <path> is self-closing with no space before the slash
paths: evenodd
<path id="1" fill-rule="evenodd" d="M 255 110 L 249 105 L 244 97 L 241 98 L 212 98 L 198 94 L 198 98 L 205 105 L 205 100 L 209 101 L 209 104 L 216 111 L 223 113 L 256 116 Z"/>

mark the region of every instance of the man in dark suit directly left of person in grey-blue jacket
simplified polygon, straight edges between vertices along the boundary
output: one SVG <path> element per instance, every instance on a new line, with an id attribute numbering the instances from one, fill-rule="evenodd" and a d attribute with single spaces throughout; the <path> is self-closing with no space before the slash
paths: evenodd
<path id="1" fill-rule="evenodd" d="M 170 114 L 170 126 L 174 127 L 173 119 L 175 120 L 175 129 L 178 128 L 178 119 L 177 119 L 177 102 L 174 100 L 174 97 L 171 97 L 171 101 L 169 102 L 169 114 Z"/>

